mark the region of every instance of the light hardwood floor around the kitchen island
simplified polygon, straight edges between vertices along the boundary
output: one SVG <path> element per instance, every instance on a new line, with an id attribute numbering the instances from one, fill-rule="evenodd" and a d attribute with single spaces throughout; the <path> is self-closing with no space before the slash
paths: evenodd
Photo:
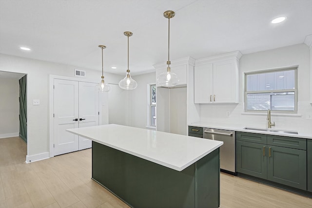
<path id="1" fill-rule="evenodd" d="M 91 149 L 25 163 L 19 137 L 0 139 L 0 208 L 129 208 L 91 180 Z M 312 199 L 221 173 L 220 208 L 312 208 Z"/>

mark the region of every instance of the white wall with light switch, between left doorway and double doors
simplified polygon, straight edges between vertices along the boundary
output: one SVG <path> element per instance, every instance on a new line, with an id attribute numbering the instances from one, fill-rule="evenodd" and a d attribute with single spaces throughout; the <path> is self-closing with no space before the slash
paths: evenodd
<path id="1" fill-rule="evenodd" d="M 0 71 L 27 74 L 27 155 L 49 151 L 49 75 L 74 77 L 74 69 L 86 71 L 86 79 L 100 81 L 101 72 L 79 67 L 0 54 Z M 123 76 L 105 74 L 107 82 L 116 83 Z M 118 83 L 118 82 L 117 82 Z M 40 105 L 32 105 L 39 99 Z"/>

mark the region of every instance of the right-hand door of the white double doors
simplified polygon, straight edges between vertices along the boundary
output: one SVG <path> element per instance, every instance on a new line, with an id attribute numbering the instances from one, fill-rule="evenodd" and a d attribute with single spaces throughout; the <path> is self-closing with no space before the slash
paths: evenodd
<path id="1" fill-rule="evenodd" d="M 98 92 L 96 83 L 79 82 L 79 128 L 98 125 Z M 79 150 L 92 147 L 89 139 L 79 136 Z"/>

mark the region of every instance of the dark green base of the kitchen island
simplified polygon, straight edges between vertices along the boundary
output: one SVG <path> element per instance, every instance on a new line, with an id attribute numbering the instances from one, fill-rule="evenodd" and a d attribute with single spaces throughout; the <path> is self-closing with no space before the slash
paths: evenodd
<path id="1" fill-rule="evenodd" d="M 92 141 L 92 179 L 132 208 L 220 207 L 219 148 L 182 171 Z"/>

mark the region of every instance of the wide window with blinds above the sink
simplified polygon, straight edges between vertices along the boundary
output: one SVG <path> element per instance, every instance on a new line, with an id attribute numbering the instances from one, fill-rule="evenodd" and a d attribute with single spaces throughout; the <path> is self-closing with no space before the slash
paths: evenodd
<path id="1" fill-rule="evenodd" d="M 297 68 L 245 74 L 245 110 L 297 112 Z"/>

